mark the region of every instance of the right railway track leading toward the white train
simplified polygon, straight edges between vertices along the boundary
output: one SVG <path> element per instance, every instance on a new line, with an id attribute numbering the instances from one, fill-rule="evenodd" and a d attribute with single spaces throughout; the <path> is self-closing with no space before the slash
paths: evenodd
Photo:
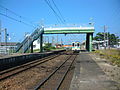
<path id="1" fill-rule="evenodd" d="M 62 64 L 60 64 L 46 78 L 42 79 L 34 90 L 58 90 L 61 87 L 68 71 L 70 70 L 77 54 L 70 55 Z"/>

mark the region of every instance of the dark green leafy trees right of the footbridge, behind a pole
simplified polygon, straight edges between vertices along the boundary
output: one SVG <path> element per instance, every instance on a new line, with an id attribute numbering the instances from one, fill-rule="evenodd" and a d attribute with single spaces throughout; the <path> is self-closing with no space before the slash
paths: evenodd
<path id="1" fill-rule="evenodd" d="M 105 33 L 105 38 L 106 39 L 107 39 L 107 36 L 108 36 L 110 46 L 114 46 L 114 45 L 118 44 L 118 41 L 119 41 L 118 36 L 116 36 L 115 34 Z M 93 40 L 103 41 L 104 40 L 104 33 L 103 32 L 97 33 L 96 36 L 93 38 Z"/>

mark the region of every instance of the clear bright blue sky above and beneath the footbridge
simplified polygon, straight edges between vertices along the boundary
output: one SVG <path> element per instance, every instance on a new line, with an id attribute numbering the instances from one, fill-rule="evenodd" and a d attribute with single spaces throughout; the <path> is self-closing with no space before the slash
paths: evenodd
<path id="1" fill-rule="evenodd" d="M 53 9 L 55 8 L 52 0 L 49 0 Z M 89 22 L 94 23 L 95 33 L 103 32 L 103 26 L 106 25 L 107 32 L 114 33 L 120 36 L 120 0 L 54 0 L 59 8 L 64 23 L 57 20 L 54 12 L 47 5 L 45 0 L 0 0 L 0 5 L 11 10 L 0 7 L 0 13 L 13 17 L 17 20 L 24 21 L 30 24 L 44 24 L 52 26 L 55 24 L 79 24 L 87 26 Z M 20 18 L 22 16 L 22 18 Z M 33 32 L 34 27 L 14 21 L 0 14 L 2 29 L 7 28 L 10 42 L 21 42 L 26 32 Z M 51 38 L 53 35 L 49 35 Z M 56 35 L 54 35 L 56 37 Z M 80 41 L 85 40 L 85 35 L 58 35 L 59 41 L 61 37 L 63 42 L 70 40 Z M 2 37 L 3 38 L 3 37 Z M 72 39 L 71 39 L 72 38 Z"/>

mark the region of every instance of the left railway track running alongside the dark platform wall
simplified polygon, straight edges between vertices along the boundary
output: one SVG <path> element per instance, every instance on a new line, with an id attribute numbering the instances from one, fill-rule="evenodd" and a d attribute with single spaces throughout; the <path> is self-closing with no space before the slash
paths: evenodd
<path id="1" fill-rule="evenodd" d="M 5 80 L 7 78 L 10 78 L 10 77 L 12 77 L 12 76 L 14 76 L 16 74 L 19 74 L 19 73 L 21 73 L 23 71 L 26 71 L 26 70 L 28 70 L 30 68 L 33 68 L 33 67 L 37 66 L 37 65 L 45 63 L 45 62 L 47 62 L 49 60 L 52 60 L 52 59 L 54 59 L 54 58 L 56 58 L 58 56 L 60 56 L 60 54 L 51 55 L 51 56 L 48 56 L 46 58 L 38 59 L 38 60 L 23 64 L 23 65 L 20 65 L 20 66 L 16 66 L 16 67 L 4 70 L 4 71 L 0 72 L 0 81 Z"/>

